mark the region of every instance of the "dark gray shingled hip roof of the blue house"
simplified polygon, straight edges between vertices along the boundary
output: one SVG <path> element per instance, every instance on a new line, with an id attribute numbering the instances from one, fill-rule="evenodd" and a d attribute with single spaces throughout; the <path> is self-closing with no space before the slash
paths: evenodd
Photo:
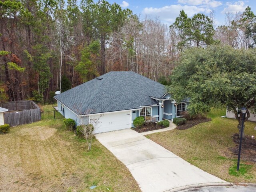
<path id="1" fill-rule="evenodd" d="M 102 78 L 102 80 L 99 80 Z M 165 86 L 131 71 L 108 72 L 54 98 L 78 115 L 128 110 L 158 104 Z"/>

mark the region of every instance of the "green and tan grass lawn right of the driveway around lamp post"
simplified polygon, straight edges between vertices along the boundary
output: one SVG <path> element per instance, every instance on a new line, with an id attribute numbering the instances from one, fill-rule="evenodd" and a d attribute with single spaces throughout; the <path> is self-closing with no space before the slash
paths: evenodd
<path id="1" fill-rule="evenodd" d="M 191 164 L 228 182 L 256 183 L 255 163 L 242 160 L 240 171 L 236 171 L 237 156 L 229 148 L 235 146 L 232 135 L 238 133 L 238 121 L 222 118 L 225 113 L 226 110 L 212 111 L 208 114 L 212 118 L 210 122 L 187 130 L 174 129 L 147 137 Z M 245 126 L 245 134 L 256 135 L 255 122 L 246 122 Z"/>

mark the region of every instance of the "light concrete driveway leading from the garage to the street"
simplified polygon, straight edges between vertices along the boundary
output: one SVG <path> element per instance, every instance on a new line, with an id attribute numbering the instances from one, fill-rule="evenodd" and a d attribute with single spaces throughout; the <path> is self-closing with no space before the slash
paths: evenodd
<path id="1" fill-rule="evenodd" d="M 126 165 L 142 192 L 164 192 L 194 184 L 225 182 L 134 130 L 97 134 L 96 138 Z"/>

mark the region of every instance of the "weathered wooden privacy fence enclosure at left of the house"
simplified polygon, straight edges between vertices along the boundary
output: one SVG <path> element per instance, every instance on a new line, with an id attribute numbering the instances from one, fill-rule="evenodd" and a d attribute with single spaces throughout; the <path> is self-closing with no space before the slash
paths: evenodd
<path id="1" fill-rule="evenodd" d="M 2 103 L 2 107 L 9 110 L 8 112 L 4 112 L 4 123 L 10 126 L 28 124 L 41 120 L 40 108 L 33 101 Z"/>

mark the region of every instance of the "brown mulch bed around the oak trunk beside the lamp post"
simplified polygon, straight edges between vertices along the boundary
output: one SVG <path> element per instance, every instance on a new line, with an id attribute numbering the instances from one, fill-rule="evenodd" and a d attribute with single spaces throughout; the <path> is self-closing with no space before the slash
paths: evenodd
<path id="1" fill-rule="evenodd" d="M 235 147 L 230 148 L 230 151 L 238 155 L 238 148 L 239 148 L 239 134 L 235 133 L 233 136 L 233 141 L 236 144 Z M 242 149 L 241 149 L 241 159 L 250 162 L 256 162 L 256 139 L 252 138 L 251 136 L 246 135 L 245 139 L 242 140 Z"/>

